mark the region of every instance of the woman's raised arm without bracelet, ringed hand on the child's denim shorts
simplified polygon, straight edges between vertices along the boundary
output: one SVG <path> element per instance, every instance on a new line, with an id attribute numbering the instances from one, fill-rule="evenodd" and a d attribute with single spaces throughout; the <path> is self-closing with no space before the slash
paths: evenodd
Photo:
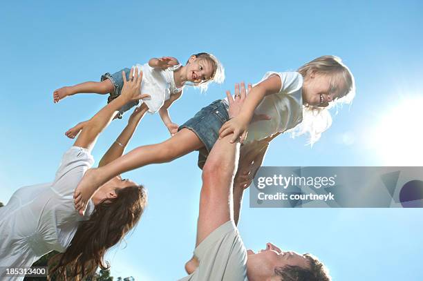
<path id="1" fill-rule="evenodd" d="M 133 74 L 133 69 L 131 69 L 130 77 L 133 77 L 133 81 L 131 83 L 126 82 L 124 72 L 122 72 L 122 77 L 124 78 L 124 87 L 122 88 L 121 95 L 118 98 L 113 99 L 111 103 L 104 106 L 104 108 L 102 108 L 91 119 L 84 122 L 82 131 L 77 137 L 75 144 L 73 144 L 74 146 L 88 148 L 91 150 L 98 135 L 100 135 L 102 130 L 109 125 L 117 110 L 131 100 L 149 97 L 149 95 L 140 95 L 142 72 L 140 75 L 138 75 L 138 71 L 135 71 L 135 74 Z"/>

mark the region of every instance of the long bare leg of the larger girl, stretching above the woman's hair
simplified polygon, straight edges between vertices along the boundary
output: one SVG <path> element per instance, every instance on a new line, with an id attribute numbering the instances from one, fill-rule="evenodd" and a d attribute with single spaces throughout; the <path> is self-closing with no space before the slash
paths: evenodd
<path id="1" fill-rule="evenodd" d="M 75 205 L 80 203 L 81 207 L 86 209 L 86 202 L 97 188 L 116 175 L 148 164 L 171 162 L 203 146 L 196 133 L 183 128 L 165 142 L 135 148 L 105 166 L 88 170 L 75 190 Z"/>

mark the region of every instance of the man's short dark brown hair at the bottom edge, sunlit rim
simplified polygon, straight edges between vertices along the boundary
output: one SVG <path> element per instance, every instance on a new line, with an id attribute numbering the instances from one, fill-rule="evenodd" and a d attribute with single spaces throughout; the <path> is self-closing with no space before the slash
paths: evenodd
<path id="1" fill-rule="evenodd" d="M 330 275 L 325 265 L 319 262 L 316 257 L 309 253 L 304 254 L 307 258 L 310 267 L 304 269 L 303 267 L 276 267 L 274 273 L 281 277 L 281 281 L 330 281 Z"/>

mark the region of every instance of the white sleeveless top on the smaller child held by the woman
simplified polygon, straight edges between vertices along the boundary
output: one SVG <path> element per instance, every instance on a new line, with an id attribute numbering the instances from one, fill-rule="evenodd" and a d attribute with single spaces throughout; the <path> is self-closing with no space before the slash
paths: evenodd
<path id="1" fill-rule="evenodd" d="M 142 70 L 141 93 L 151 96 L 149 99 L 140 100 L 141 103 L 147 104 L 149 113 L 156 113 L 163 106 L 164 101 L 184 88 L 184 86 L 176 87 L 173 77 L 173 71 L 179 67 L 180 64 L 167 69 L 152 68 L 149 64 L 135 64 L 133 66 L 133 68 Z"/>

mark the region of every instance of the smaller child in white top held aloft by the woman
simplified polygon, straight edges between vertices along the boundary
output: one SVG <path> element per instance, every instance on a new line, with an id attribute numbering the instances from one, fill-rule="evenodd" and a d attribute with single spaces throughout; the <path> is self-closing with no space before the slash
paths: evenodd
<path id="1" fill-rule="evenodd" d="M 171 135 L 178 131 L 178 125 L 171 122 L 167 109 L 173 101 L 180 98 L 184 86 L 191 82 L 192 85 L 207 90 L 210 82 L 215 81 L 220 84 L 225 79 L 223 66 L 214 55 L 207 52 L 191 55 L 185 66 L 181 66 L 174 57 L 162 57 L 150 59 L 148 64 L 136 64 L 134 67 L 143 72 L 142 93 L 148 93 L 151 96 L 151 99 L 145 99 L 144 103 L 147 104 L 150 113 L 159 112 Z M 130 69 L 124 68 L 123 71 L 126 74 L 126 79 L 129 79 Z M 122 86 L 122 70 L 120 70 L 112 75 L 110 73 L 102 75 L 100 82 L 90 81 L 59 88 L 53 93 L 53 101 L 57 103 L 61 99 L 77 93 L 98 93 L 102 95 L 110 93 L 108 99 L 108 102 L 110 102 L 120 95 Z M 122 106 L 115 118 L 122 118 L 125 111 L 137 106 L 139 102 L 131 101 Z M 66 135 L 73 138 L 81 128 L 82 124 L 78 124 L 68 130 Z"/>

